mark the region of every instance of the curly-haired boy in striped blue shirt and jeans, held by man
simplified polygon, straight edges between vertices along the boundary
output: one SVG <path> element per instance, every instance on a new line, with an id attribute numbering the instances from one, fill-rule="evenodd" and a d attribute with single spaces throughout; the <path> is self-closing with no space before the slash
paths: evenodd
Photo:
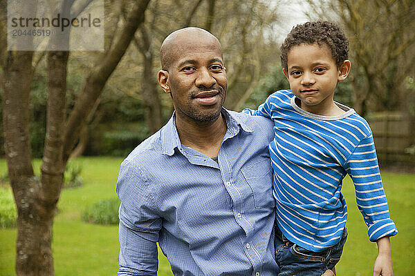
<path id="1" fill-rule="evenodd" d="M 347 206 L 340 192 L 349 174 L 371 242 L 378 244 L 374 275 L 393 275 L 389 218 L 369 125 L 333 101 L 351 63 L 349 41 L 327 21 L 298 25 L 281 46 L 291 90 L 270 95 L 258 110 L 275 122 L 270 143 L 277 205 L 276 260 L 282 275 L 321 275 L 340 259 L 347 238 Z"/>

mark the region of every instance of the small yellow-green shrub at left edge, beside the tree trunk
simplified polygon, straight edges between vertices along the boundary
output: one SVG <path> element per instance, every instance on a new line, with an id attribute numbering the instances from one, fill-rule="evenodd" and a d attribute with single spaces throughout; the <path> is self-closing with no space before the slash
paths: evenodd
<path id="1" fill-rule="evenodd" d="M 10 188 L 0 188 L 0 228 L 16 226 L 17 210 Z"/>

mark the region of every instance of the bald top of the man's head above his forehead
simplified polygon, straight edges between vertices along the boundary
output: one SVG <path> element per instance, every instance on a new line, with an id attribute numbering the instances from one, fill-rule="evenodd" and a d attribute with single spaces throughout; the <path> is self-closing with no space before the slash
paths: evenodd
<path id="1" fill-rule="evenodd" d="M 192 43 L 200 43 L 201 41 L 216 44 L 222 52 L 219 40 L 207 30 L 196 27 L 183 28 L 169 34 L 161 44 L 161 68 L 163 70 L 168 70 L 176 59 L 175 56 L 177 52 L 180 52 Z"/>

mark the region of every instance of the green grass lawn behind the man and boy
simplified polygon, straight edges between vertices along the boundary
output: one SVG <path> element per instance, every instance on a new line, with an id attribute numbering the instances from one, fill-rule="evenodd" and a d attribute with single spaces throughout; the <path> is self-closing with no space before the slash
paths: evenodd
<path id="1" fill-rule="evenodd" d="M 122 159 L 82 157 L 72 162 L 82 166 L 84 186 L 62 190 L 53 226 L 55 275 L 116 275 L 118 270 L 118 226 L 87 224 L 81 220 L 85 207 L 101 199 L 116 197 L 115 185 Z M 34 168 L 39 172 L 40 161 Z M 6 161 L 0 159 L 0 176 Z M 382 172 L 391 218 L 399 234 L 391 238 L 395 275 L 415 270 L 415 175 Z M 376 244 L 367 239 L 367 227 L 356 207 L 353 184 L 344 181 L 349 238 L 336 270 L 338 275 L 373 275 Z M 15 229 L 0 229 L 0 276 L 15 275 Z M 160 276 L 172 275 L 167 259 L 159 254 Z"/>

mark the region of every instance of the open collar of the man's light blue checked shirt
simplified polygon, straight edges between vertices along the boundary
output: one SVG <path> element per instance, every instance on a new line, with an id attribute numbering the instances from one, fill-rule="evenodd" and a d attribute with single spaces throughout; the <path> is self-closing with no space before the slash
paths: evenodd
<path id="1" fill-rule="evenodd" d="M 225 118 L 226 122 L 226 133 L 223 140 L 232 138 L 236 136 L 239 130 L 244 132 L 251 133 L 254 132 L 249 126 L 248 121 L 243 119 L 241 113 L 234 112 L 222 108 L 222 115 Z M 176 128 L 176 112 L 173 112 L 172 117 L 169 119 L 167 124 L 161 129 L 161 146 L 163 148 L 163 154 L 172 156 L 174 155 L 174 149 L 182 149 L 182 144 L 180 138 L 178 137 L 178 132 Z"/>

